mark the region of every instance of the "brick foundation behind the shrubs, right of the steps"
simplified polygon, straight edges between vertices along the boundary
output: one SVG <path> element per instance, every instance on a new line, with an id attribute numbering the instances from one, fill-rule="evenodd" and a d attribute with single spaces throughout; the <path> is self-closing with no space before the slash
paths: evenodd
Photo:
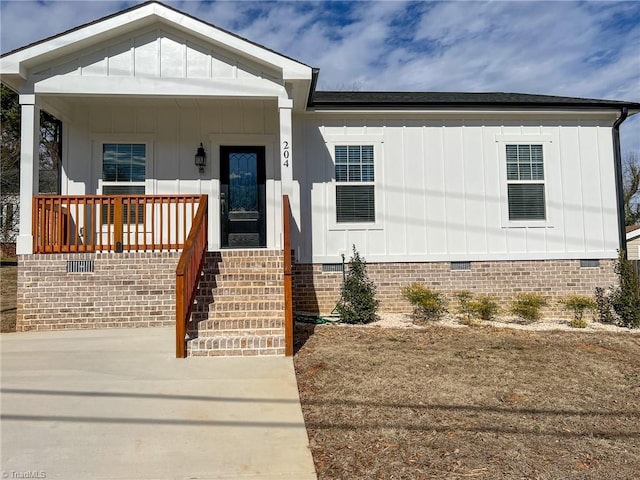
<path id="1" fill-rule="evenodd" d="M 482 261 L 471 262 L 470 270 L 451 270 L 449 262 L 368 263 L 367 272 L 377 287 L 381 312 L 409 312 L 411 306 L 400 289 L 413 282 L 442 292 L 455 308 L 453 294 L 469 290 L 493 295 L 508 306 L 519 292 L 547 297 L 543 314 L 569 318 L 559 301 L 568 295 L 593 296 L 595 287 L 616 281 L 614 260 L 600 260 L 600 266 L 581 268 L 580 260 Z M 296 312 L 326 315 L 340 297 L 342 272 L 322 272 L 322 265 L 297 264 L 293 271 L 293 299 Z"/>

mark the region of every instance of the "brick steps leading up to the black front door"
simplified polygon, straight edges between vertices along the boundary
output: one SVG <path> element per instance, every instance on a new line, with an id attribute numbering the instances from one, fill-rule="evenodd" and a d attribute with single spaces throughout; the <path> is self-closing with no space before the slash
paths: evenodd
<path id="1" fill-rule="evenodd" d="M 205 259 L 187 356 L 284 355 L 281 250 L 223 250 Z"/>

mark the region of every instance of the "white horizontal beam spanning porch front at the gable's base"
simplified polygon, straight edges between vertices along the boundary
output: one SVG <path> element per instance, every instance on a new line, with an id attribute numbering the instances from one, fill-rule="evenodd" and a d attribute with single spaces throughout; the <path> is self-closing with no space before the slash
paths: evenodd
<path id="1" fill-rule="evenodd" d="M 114 78 L 117 81 L 114 81 Z M 287 98 L 283 86 L 261 79 L 157 77 L 50 77 L 34 85 L 36 94 L 174 97 Z"/>

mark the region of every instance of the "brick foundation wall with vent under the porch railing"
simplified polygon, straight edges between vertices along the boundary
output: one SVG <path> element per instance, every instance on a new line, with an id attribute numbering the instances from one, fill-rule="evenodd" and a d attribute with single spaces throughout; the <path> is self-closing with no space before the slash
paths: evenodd
<path id="1" fill-rule="evenodd" d="M 179 252 L 20 255 L 18 331 L 175 325 Z M 93 260 L 94 273 L 67 273 Z"/>

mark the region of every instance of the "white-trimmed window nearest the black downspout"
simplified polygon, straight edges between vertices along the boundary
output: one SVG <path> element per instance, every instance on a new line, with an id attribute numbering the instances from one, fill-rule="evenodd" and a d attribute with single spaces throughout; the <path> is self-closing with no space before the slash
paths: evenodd
<path id="1" fill-rule="evenodd" d="M 547 178 L 550 135 L 496 137 L 501 172 L 502 220 L 505 227 L 552 227 Z"/>

